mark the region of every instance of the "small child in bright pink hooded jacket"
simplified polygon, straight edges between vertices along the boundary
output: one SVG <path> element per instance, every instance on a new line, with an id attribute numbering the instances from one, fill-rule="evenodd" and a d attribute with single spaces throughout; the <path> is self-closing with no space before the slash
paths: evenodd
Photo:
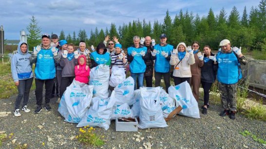
<path id="1" fill-rule="evenodd" d="M 90 67 L 86 65 L 86 56 L 83 54 L 80 55 L 78 57 L 78 65 L 75 66 L 75 80 L 88 84 L 90 71 Z"/>

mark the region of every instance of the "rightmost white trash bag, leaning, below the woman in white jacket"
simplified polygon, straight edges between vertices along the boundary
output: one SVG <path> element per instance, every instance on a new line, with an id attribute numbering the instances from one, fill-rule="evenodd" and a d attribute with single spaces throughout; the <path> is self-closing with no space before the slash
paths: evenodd
<path id="1" fill-rule="evenodd" d="M 180 115 L 200 118 L 198 102 L 194 98 L 188 82 L 170 86 L 168 93 L 171 98 L 175 99 L 176 107 L 180 105 L 183 108 L 179 113 Z"/>

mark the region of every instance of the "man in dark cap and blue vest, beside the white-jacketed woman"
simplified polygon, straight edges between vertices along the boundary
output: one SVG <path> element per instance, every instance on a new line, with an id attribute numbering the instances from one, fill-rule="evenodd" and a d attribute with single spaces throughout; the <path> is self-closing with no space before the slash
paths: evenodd
<path id="1" fill-rule="evenodd" d="M 170 87 L 170 59 L 173 46 L 166 43 L 167 36 L 165 33 L 160 35 L 160 44 L 154 46 L 152 59 L 155 60 L 154 77 L 155 87 L 160 86 L 161 77 L 164 77 L 165 90 L 168 93 Z"/>

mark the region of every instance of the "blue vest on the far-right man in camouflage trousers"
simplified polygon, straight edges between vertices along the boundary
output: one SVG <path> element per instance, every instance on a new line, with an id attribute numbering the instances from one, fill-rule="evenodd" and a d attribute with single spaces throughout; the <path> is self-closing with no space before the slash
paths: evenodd
<path id="1" fill-rule="evenodd" d="M 219 51 L 216 59 L 218 62 L 217 79 L 220 83 L 234 84 L 242 78 L 240 63 L 234 52 L 222 53 Z"/>

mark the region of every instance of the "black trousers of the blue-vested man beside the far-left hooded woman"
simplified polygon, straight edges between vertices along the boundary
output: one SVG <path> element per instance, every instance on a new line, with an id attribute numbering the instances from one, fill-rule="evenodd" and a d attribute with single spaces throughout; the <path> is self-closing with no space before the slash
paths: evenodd
<path id="1" fill-rule="evenodd" d="M 36 90 L 35 96 L 37 105 L 42 104 L 42 90 L 43 84 L 45 84 L 45 103 L 49 103 L 52 95 L 54 79 L 40 80 L 35 78 Z"/>

